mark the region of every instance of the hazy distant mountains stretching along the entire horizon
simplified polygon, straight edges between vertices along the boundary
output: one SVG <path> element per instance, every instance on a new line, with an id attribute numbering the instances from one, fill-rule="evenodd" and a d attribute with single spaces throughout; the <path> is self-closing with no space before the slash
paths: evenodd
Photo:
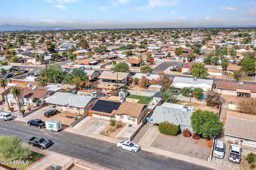
<path id="1" fill-rule="evenodd" d="M 186 26 L 186 27 L 172 27 L 172 28 L 256 28 L 255 25 L 205 25 L 205 26 Z M 118 28 L 116 28 L 118 29 Z M 123 30 L 124 28 L 122 28 Z M 126 29 L 132 29 L 132 28 L 126 28 Z M 138 29 L 138 28 L 136 28 Z M 146 28 L 141 28 L 146 29 Z M 150 28 L 148 28 L 150 29 Z M 167 29 L 167 28 L 166 28 Z M 5 24 L 0 26 L 0 31 L 50 31 L 50 30 L 81 30 L 79 28 L 72 28 L 72 27 L 65 27 L 65 26 L 18 26 L 18 25 L 10 25 Z M 88 29 L 88 30 L 94 30 L 94 29 Z M 98 30 L 98 29 L 97 29 Z M 102 28 L 102 30 L 108 30 Z"/>

